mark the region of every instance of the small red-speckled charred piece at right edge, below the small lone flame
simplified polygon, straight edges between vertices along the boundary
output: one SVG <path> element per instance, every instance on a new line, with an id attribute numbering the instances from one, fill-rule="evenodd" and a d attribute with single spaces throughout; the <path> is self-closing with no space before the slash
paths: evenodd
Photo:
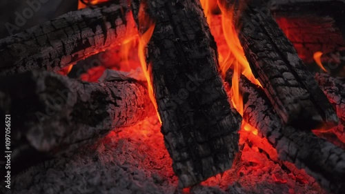
<path id="1" fill-rule="evenodd" d="M 335 110 L 337 110 L 340 122 L 333 128 L 333 132 L 340 141 L 345 143 L 345 79 L 337 79 L 324 73 L 317 73 L 315 79 L 328 100 L 335 106 Z"/>

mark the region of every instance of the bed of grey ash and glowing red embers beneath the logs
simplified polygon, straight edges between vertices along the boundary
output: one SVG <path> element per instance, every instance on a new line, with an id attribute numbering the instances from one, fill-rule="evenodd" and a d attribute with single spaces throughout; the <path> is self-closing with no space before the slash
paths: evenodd
<path id="1" fill-rule="evenodd" d="M 29 168 L 12 181 L 11 190 L 4 190 L 1 184 L 0 193 L 326 194 L 317 184 L 300 182 L 297 175 L 284 171 L 248 145 L 231 170 L 190 191 L 181 191 L 159 128 L 157 117 L 150 117 L 135 126 L 112 131 L 73 155 Z"/>

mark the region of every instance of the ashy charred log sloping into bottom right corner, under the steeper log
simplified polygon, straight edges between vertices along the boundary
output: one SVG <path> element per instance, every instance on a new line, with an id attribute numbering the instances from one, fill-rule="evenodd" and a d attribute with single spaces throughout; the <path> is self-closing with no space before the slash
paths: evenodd
<path id="1" fill-rule="evenodd" d="M 233 72 L 226 75 L 231 84 Z M 304 168 L 319 184 L 333 193 L 345 190 L 345 151 L 317 137 L 311 130 L 286 126 L 275 112 L 264 90 L 246 77 L 239 80 L 244 101 L 243 119 L 277 149 L 279 158 Z"/>

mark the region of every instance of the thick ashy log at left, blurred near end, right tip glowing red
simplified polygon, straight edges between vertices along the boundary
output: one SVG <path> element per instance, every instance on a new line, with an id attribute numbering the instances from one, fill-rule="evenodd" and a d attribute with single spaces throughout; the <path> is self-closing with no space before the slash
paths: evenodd
<path id="1" fill-rule="evenodd" d="M 137 81 L 87 83 L 32 71 L 1 83 L 0 112 L 12 119 L 12 173 L 156 113 Z"/>

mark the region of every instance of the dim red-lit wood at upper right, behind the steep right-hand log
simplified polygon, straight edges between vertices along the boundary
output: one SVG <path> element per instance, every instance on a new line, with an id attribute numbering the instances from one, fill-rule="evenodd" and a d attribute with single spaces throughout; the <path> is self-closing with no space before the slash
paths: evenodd
<path id="1" fill-rule="evenodd" d="M 274 17 L 305 64 L 313 64 L 315 52 L 328 53 L 345 46 L 342 32 L 332 17 L 302 11 L 295 16 L 296 12 L 290 10 L 288 14 L 277 11 Z"/>

